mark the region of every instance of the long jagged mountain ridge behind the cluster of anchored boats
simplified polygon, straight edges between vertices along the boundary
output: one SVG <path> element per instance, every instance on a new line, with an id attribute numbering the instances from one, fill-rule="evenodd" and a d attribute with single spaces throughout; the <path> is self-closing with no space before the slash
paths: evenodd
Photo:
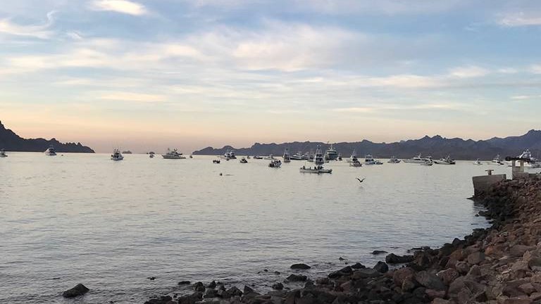
<path id="1" fill-rule="evenodd" d="M 250 156 L 267 156 L 273 154 L 282 156 L 285 148 L 289 148 L 290 154 L 307 151 L 315 151 L 317 146 L 321 146 L 323 150 L 328 148 L 328 144 L 322 142 L 290 142 L 284 144 L 259 144 L 256 143 L 249 148 L 233 148 L 232 146 L 224 146 L 223 148 L 203 148 L 199 151 L 194 151 L 194 155 L 223 155 L 225 151 L 233 150 L 237 155 Z M 533 153 L 533 156 L 541 156 L 541 131 L 530 130 L 528 133 L 518 137 L 505 137 L 474 141 L 472 139 L 453 138 L 447 139 L 436 135 L 435 137 L 425 136 L 421 139 L 410 139 L 407 141 L 399 141 L 390 144 L 374 143 L 372 141 L 363 140 L 356 142 L 341 142 L 334 144 L 335 149 L 342 153 L 342 157 L 346 158 L 352 154 L 355 149 L 357 156 L 361 157 L 365 154 L 372 154 L 375 158 L 411 158 L 421 153 L 423 156 L 433 156 L 433 158 L 443 158 L 451 156 L 457 160 L 491 160 L 497 154 L 502 156 L 518 156 L 527 148 Z"/>

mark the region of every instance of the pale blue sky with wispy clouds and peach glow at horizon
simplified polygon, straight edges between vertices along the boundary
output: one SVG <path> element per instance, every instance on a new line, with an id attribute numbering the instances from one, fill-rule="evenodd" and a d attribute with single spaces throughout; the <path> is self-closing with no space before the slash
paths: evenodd
<path id="1" fill-rule="evenodd" d="M 541 1 L 18 0 L 0 120 L 99 152 L 540 129 Z"/>

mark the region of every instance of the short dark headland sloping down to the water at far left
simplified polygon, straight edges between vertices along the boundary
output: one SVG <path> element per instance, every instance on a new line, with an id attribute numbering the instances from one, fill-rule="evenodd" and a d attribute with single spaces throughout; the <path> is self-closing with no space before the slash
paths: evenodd
<path id="1" fill-rule="evenodd" d="M 0 149 L 4 148 L 6 151 L 43 152 L 50 145 L 53 145 L 57 152 L 94 153 L 92 148 L 83 146 L 81 143 L 62 144 L 56 139 L 23 139 L 11 131 L 11 129 L 6 129 L 2 125 L 2 122 L 0 122 Z"/>

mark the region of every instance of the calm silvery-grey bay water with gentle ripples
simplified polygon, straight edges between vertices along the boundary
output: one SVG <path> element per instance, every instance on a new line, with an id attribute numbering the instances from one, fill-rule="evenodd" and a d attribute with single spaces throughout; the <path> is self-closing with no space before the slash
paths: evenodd
<path id="1" fill-rule="evenodd" d="M 264 288 L 294 262 L 313 265 L 312 277 L 341 267 L 340 257 L 371 266 L 384 258 L 373 250 L 440 246 L 485 227 L 466 200 L 471 177 L 510 172 L 335 162 L 332 175 L 303 175 L 304 162 L 212 159 L 0 158 L 0 302 L 143 303 L 182 292 L 182 280 Z M 84 298 L 61 297 L 80 282 L 91 289 Z"/>

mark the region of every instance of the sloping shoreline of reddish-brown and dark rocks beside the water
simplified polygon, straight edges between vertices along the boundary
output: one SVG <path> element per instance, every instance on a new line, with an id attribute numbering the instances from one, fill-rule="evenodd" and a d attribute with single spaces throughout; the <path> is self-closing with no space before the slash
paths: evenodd
<path id="1" fill-rule="evenodd" d="M 438 249 L 391 253 L 374 267 L 357 263 L 314 280 L 303 274 L 308 265 L 292 265 L 266 294 L 197 282 L 189 294 L 145 304 L 541 303 L 541 178 L 499 182 L 475 201 L 492 227 Z M 304 287 L 288 289 L 292 281 Z"/>

